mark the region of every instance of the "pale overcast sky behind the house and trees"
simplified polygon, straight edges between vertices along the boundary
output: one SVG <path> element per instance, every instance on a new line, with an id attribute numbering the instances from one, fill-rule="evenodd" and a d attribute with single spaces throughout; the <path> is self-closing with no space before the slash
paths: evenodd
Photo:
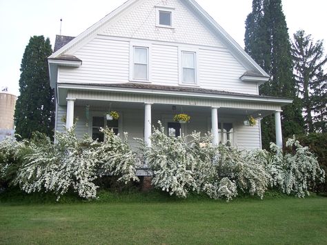
<path id="1" fill-rule="evenodd" d="M 126 0 L 0 0 L 0 88 L 8 86 L 19 95 L 20 65 L 23 52 L 33 35 L 54 38 L 77 36 Z M 197 0 L 213 19 L 224 28 L 241 47 L 244 47 L 245 20 L 252 8 L 252 0 Z M 299 29 L 326 40 L 327 0 L 282 0 L 290 37 Z"/>

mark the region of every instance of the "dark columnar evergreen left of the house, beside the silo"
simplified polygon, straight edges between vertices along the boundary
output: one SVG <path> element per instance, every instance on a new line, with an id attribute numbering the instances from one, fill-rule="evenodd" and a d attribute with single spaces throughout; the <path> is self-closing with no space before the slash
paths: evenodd
<path id="1" fill-rule="evenodd" d="M 39 131 L 53 137 L 54 91 L 50 88 L 47 58 L 52 54 L 49 39 L 30 38 L 21 60 L 20 95 L 14 111 L 16 133 L 30 138 Z"/>

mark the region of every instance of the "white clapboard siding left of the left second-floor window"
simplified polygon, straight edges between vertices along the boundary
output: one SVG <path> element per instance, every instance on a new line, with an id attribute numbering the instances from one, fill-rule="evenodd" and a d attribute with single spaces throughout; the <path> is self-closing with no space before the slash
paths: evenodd
<path id="1" fill-rule="evenodd" d="M 129 42 L 99 37 L 74 55 L 83 61 L 80 68 L 59 68 L 59 83 L 115 84 L 128 81 Z"/>

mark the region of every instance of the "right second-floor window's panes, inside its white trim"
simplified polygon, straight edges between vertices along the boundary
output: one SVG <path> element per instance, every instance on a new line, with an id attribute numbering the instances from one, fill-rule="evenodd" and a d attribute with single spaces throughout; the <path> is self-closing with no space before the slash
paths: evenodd
<path id="1" fill-rule="evenodd" d="M 196 79 L 196 54 L 195 52 L 181 52 L 182 59 L 182 83 L 184 84 L 197 84 Z"/>

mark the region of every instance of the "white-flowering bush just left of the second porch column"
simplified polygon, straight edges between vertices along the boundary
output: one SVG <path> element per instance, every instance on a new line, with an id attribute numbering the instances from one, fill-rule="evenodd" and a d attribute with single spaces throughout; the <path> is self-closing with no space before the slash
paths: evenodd
<path id="1" fill-rule="evenodd" d="M 132 152 L 128 144 L 128 134 L 123 134 L 123 139 L 108 129 L 102 128 L 101 131 L 106 137 L 106 141 L 101 142 L 97 148 L 99 155 L 99 175 L 116 175 L 118 181 L 127 184 L 130 181 L 139 181 L 136 176 L 137 157 Z"/>

